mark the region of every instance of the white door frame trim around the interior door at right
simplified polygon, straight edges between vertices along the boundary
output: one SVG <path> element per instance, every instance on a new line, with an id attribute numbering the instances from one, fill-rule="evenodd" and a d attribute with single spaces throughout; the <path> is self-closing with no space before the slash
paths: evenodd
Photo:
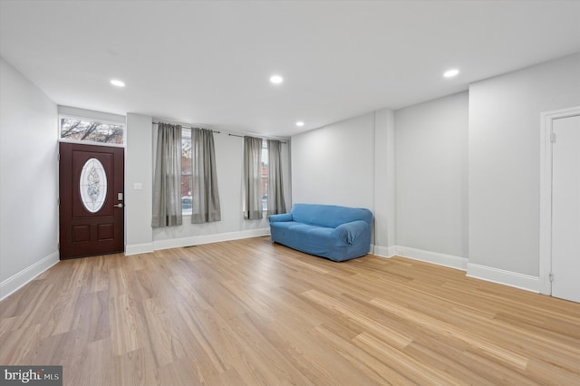
<path id="1" fill-rule="evenodd" d="M 580 106 L 546 111 L 540 122 L 540 294 L 552 294 L 552 125 L 562 118 L 580 115 Z"/>

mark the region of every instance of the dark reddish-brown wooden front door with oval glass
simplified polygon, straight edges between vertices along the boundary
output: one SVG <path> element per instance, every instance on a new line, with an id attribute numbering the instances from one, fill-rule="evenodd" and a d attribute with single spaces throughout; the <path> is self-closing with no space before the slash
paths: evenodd
<path id="1" fill-rule="evenodd" d="M 61 142 L 61 259 L 123 252 L 124 151 Z"/>

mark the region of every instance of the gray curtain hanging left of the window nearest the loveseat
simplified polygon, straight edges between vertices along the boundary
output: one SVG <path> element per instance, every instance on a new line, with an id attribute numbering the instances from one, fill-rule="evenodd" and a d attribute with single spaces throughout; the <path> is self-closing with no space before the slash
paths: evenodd
<path id="1" fill-rule="evenodd" d="M 244 218 L 262 218 L 262 139 L 244 137 Z"/>

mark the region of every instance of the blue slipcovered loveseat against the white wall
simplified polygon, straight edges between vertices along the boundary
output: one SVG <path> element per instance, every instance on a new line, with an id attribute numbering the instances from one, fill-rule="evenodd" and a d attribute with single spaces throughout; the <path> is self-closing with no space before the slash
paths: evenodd
<path id="1" fill-rule="evenodd" d="M 333 261 L 364 256 L 371 248 L 372 212 L 359 207 L 295 204 L 269 217 L 272 241 Z"/>

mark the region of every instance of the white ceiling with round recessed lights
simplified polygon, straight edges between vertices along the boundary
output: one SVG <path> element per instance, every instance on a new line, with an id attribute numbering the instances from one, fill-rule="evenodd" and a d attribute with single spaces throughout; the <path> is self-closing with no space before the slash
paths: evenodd
<path id="1" fill-rule="evenodd" d="M 579 20 L 555 0 L 0 0 L 0 54 L 58 104 L 287 137 L 580 52 Z"/>

